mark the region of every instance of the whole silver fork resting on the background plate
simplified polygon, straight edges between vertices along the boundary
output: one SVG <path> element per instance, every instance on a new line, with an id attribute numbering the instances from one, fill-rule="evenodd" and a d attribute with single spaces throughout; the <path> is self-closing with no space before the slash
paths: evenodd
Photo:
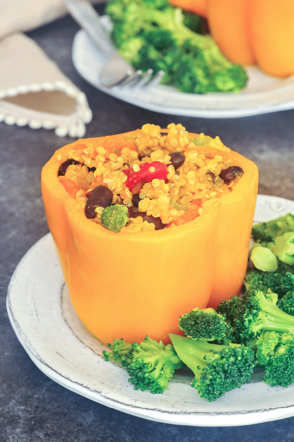
<path id="1" fill-rule="evenodd" d="M 66 7 L 73 19 L 91 37 L 99 50 L 106 55 L 108 61 L 99 74 L 99 81 L 105 87 L 156 85 L 160 82 L 163 72 L 152 77 L 153 70 L 135 71 L 119 54 L 111 38 L 100 24 L 100 16 L 88 0 L 65 0 Z"/>

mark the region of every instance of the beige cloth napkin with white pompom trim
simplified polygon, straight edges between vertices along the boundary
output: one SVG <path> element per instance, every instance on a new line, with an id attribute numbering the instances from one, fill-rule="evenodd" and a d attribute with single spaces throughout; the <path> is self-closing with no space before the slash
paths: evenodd
<path id="1" fill-rule="evenodd" d="M 0 121 L 81 138 L 86 96 L 23 31 L 66 14 L 62 0 L 0 0 Z"/>

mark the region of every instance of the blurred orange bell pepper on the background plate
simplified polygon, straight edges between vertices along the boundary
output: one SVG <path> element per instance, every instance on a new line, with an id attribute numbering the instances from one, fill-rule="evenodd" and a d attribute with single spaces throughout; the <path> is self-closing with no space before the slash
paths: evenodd
<path id="1" fill-rule="evenodd" d="M 256 64 L 265 73 L 294 74 L 294 1 L 170 0 L 206 18 L 212 37 L 232 62 Z"/>

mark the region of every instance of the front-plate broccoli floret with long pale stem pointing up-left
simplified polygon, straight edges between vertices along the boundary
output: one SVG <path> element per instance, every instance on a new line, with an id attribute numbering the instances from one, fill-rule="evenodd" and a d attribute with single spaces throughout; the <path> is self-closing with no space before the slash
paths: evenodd
<path id="1" fill-rule="evenodd" d="M 195 375 L 191 386 L 208 401 L 214 401 L 250 380 L 255 365 L 251 348 L 212 344 L 173 333 L 170 338 L 179 358 Z"/>

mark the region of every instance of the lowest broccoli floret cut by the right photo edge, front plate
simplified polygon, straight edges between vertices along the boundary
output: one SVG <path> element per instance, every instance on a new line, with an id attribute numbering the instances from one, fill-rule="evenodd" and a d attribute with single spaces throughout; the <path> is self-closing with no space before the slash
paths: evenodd
<path id="1" fill-rule="evenodd" d="M 263 381 L 270 386 L 294 383 L 294 335 L 266 331 L 256 341 L 256 358 L 264 366 Z"/>

